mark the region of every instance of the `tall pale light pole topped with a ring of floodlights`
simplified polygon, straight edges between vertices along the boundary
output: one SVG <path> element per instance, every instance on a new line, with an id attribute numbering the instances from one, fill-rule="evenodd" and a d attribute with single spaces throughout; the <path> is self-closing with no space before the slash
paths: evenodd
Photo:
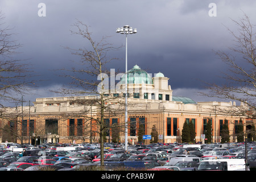
<path id="1" fill-rule="evenodd" d="M 136 34 L 137 29 L 131 28 L 129 25 L 123 26 L 122 28 L 117 28 L 117 33 L 125 34 L 125 151 L 127 151 L 127 138 L 128 138 L 128 128 L 127 128 L 127 35 Z"/>

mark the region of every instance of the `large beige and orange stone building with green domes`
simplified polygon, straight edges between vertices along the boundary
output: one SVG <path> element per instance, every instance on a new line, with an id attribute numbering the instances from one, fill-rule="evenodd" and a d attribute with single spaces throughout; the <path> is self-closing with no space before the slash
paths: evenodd
<path id="1" fill-rule="evenodd" d="M 183 96 L 174 96 L 169 78 L 163 73 L 150 76 L 138 65 L 127 74 L 128 85 L 128 142 L 138 141 L 138 126 L 143 123 L 145 135 L 150 135 L 155 125 L 159 142 L 182 142 L 181 133 L 184 122 L 192 121 L 195 125 L 196 141 L 203 142 L 207 122 L 212 123 L 212 142 L 221 142 L 220 130 L 224 122 L 228 123 L 230 142 L 236 142 L 235 126 L 238 122 L 246 123 L 246 117 L 234 114 L 236 109 L 248 109 L 246 105 L 235 102 L 195 102 Z M 109 126 L 125 122 L 124 105 L 125 77 L 113 90 L 105 90 L 105 119 Z M 114 99 L 113 99 L 114 97 Z M 31 143 L 35 138 L 40 143 L 46 142 L 98 142 L 96 126 L 90 125 L 93 118 L 99 116 L 99 109 L 93 102 L 97 96 L 49 97 L 36 98 L 33 106 L 9 108 L 11 129 L 17 131 L 17 142 Z M 79 104 L 77 100 L 86 100 Z M 17 117 L 18 115 L 18 117 Z M 20 122 L 22 121 L 23 122 Z M 3 126 L 6 121 L 2 121 Z M 245 127 L 244 127 L 245 129 Z M 125 142 L 125 134 L 120 131 L 120 142 Z M 22 137 L 20 137 L 22 136 Z M 112 131 L 109 131 L 112 140 Z M 149 140 L 145 140 L 149 143 Z M 34 141 L 32 141 L 34 143 Z"/>

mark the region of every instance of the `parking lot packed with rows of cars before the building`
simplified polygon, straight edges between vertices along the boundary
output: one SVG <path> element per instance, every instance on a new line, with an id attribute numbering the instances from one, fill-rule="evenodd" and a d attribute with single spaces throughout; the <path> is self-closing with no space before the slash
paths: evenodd
<path id="1" fill-rule="evenodd" d="M 256 143 L 137 144 L 3 143 L 0 171 L 254 171 Z M 247 152 L 247 155 L 246 155 Z M 247 158 L 246 158 L 247 156 Z"/>

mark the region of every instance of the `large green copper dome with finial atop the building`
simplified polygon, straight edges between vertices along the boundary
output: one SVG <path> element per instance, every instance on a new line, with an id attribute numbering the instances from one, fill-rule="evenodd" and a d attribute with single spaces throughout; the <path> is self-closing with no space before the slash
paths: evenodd
<path id="1" fill-rule="evenodd" d="M 127 84 L 153 84 L 153 80 L 150 75 L 142 70 L 138 65 L 135 65 L 132 69 L 127 71 Z M 120 79 L 120 84 L 125 84 L 125 75 Z"/>

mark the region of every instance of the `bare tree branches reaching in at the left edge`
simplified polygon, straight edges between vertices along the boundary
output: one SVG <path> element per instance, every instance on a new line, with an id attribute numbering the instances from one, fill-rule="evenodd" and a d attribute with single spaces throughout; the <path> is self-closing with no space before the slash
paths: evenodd
<path id="1" fill-rule="evenodd" d="M 0 12 L 0 107 L 5 107 L 3 101 L 17 102 L 19 98 L 15 97 L 28 92 L 32 81 L 28 81 L 31 73 L 28 64 L 22 60 L 13 59 L 21 47 L 19 43 L 12 40 L 14 34 L 12 29 L 5 27 L 3 20 L 5 17 Z M 2 114 L 2 112 L 1 112 Z"/>

